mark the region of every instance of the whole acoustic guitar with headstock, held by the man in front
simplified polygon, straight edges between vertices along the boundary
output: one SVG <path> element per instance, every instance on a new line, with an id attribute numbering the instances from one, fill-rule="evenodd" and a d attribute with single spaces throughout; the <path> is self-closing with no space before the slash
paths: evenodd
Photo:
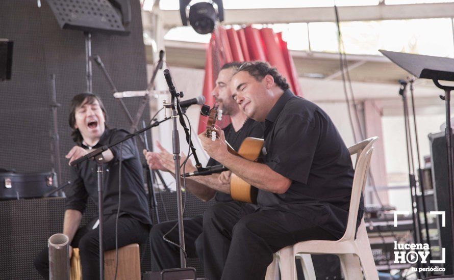
<path id="1" fill-rule="evenodd" d="M 219 111 L 217 107 L 213 107 L 208 114 L 207 128 L 205 136 L 211 138 L 213 141 L 216 139 L 215 124 L 219 120 Z M 240 156 L 244 159 L 259 162 L 260 152 L 262 151 L 264 140 L 255 137 L 247 137 L 243 140 L 236 152 L 229 143 L 226 143 L 227 149 L 231 154 Z M 258 189 L 251 186 L 249 183 L 232 173 L 230 181 L 230 195 L 233 200 L 242 201 L 247 203 L 257 204 Z"/>

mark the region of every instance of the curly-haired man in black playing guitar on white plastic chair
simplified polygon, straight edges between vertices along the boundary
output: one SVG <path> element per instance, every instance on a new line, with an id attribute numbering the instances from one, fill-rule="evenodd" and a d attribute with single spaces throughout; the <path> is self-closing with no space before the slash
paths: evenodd
<path id="1" fill-rule="evenodd" d="M 210 280 L 263 279 L 275 251 L 343 235 L 354 170 L 329 116 L 293 95 L 275 68 L 244 63 L 231 87 L 241 110 L 263 124 L 263 163 L 230 153 L 221 130 L 216 141 L 199 138 L 212 158 L 259 189 L 258 205 L 216 204 L 205 212 L 204 268 Z"/>

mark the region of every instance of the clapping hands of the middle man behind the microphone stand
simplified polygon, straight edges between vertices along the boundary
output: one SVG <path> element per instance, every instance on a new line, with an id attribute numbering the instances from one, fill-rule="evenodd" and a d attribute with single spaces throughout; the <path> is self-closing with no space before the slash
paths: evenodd
<path id="1" fill-rule="evenodd" d="M 156 141 L 156 146 L 161 150 L 160 152 L 149 152 L 147 150 L 143 150 L 143 155 L 145 156 L 146 163 L 150 167 L 150 169 L 167 171 L 171 173 L 175 173 L 175 164 L 173 161 L 173 154 L 168 152 L 164 147 L 162 147 L 161 143 Z M 186 155 L 182 152 L 181 153 L 181 161 L 185 161 Z M 181 169 L 183 172 L 183 169 Z M 186 172 L 193 172 L 196 171 L 194 165 L 190 160 L 186 163 Z"/>

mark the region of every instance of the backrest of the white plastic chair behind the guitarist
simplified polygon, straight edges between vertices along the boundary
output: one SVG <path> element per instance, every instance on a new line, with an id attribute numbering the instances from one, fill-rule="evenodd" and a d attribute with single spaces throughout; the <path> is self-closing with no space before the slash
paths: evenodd
<path id="1" fill-rule="evenodd" d="M 340 240 L 355 240 L 356 222 L 358 217 L 358 208 L 360 205 L 361 194 L 364 193 L 364 187 L 367 181 L 367 174 L 372 157 L 373 143 L 379 137 L 371 137 L 361 141 L 348 148 L 350 156 L 356 155 L 355 175 L 351 188 L 350 210 L 348 211 L 347 229 Z"/>

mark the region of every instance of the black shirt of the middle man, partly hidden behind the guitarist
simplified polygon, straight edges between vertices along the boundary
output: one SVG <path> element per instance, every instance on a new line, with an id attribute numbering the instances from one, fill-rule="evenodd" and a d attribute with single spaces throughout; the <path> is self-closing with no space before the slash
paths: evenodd
<path id="1" fill-rule="evenodd" d="M 243 124 L 243 126 L 238 131 L 235 131 L 232 124 L 229 124 L 228 126 L 224 127 L 223 131 L 224 131 L 224 135 L 225 135 L 225 141 L 227 141 L 227 143 L 229 143 L 230 146 L 232 146 L 232 148 L 235 151 L 238 151 L 238 149 L 241 146 L 241 143 L 243 143 L 243 140 L 246 137 L 257 137 L 257 138 L 263 137 L 262 126 L 260 125 L 259 122 L 256 122 L 253 119 L 247 119 L 246 122 Z M 208 160 L 207 166 L 218 165 L 218 164 L 221 164 L 221 163 L 210 158 Z M 230 194 L 223 193 L 220 191 L 216 191 L 216 195 L 215 195 L 214 199 L 217 202 L 232 201 Z"/>

